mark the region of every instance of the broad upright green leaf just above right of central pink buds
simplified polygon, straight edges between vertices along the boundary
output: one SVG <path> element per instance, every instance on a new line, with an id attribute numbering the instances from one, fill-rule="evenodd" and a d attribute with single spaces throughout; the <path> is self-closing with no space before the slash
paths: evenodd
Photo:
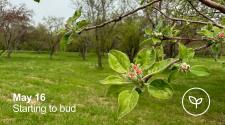
<path id="1" fill-rule="evenodd" d="M 149 69 L 156 60 L 155 50 L 142 49 L 135 58 L 135 64 L 140 64 L 145 70 Z"/>

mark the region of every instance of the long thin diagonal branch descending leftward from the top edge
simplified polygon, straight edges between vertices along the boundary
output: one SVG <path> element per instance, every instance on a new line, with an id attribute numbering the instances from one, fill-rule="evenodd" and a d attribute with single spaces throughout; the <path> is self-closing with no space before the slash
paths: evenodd
<path id="1" fill-rule="evenodd" d="M 161 0 L 155 0 L 155 1 L 152 1 L 151 3 L 148 3 L 148 4 L 144 5 L 144 6 L 141 6 L 141 7 L 137 8 L 137 9 L 135 9 L 135 10 L 133 10 L 133 11 L 130 11 L 130 12 L 128 12 L 128 13 L 126 13 L 126 14 L 124 14 L 124 15 L 121 15 L 121 16 L 119 16 L 119 17 L 117 17 L 117 18 L 114 18 L 114 19 L 112 19 L 112 20 L 103 22 L 103 23 L 101 23 L 101 24 L 99 24 L 99 25 L 91 26 L 91 27 L 86 27 L 86 28 L 82 29 L 81 31 L 79 31 L 78 34 L 82 33 L 83 31 L 88 31 L 88 30 L 92 30 L 92 29 L 101 28 L 101 27 L 104 27 L 105 25 L 108 25 L 108 24 L 110 24 L 110 23 L 121 21 L 123 18 L 128 17 L 128 16 L 130 16 L 130 15 L 132 15 L 132 14 L 138 12 L 139 10 L 143 10 L 143 9 L 145 9 L 145 8 L 151 6 L 151 5 L 153 5 L 154 3 L 157 3 L 157 2 L 159 2 L 159 1 L 161 1 Z"/>

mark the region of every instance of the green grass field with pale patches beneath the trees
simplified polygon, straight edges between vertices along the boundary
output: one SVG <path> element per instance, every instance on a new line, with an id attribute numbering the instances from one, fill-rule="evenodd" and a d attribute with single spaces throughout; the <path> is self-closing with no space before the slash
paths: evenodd
<path id="1" fill-rule="evenodd" d="M 77 53 L 56 55 L 16 53 L 0 58 L 0 125 L 224 125 L 225 69 L 209 58 L 193 62 L 209 68 L 208 77 L 177 78 L 172 82 L 173 98 L 157 100 L 141 96 L 137 107 L 121 120 L 116 119 L 117 97 L 107 97 L 99 80 L 112 74 L 104 58 L 104 69 L 96 68 L 96 57 L 82 61 Z M 204 88 L 211 97 L 209 111 L 200 117 L 184 112 L 183 93 L 191 87 Z M 45 93 L 41 105 L 77 104 L 76 113 L 14 113 L 12 93 Z M 25 104 L 25 103 L 24 103 Z"/>

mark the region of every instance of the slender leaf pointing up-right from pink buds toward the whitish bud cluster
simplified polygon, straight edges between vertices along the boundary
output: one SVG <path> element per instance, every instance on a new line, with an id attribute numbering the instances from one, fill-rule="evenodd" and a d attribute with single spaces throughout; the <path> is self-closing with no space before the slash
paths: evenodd
<path id="1" fill-rule="evenodd" d="M 154 74 L 157 74 L 159 72 L 162 72 L 163 70 L 167 69 L 171 63 L 173 62 L 174 60 L 172 59 L 166 59 L 166 60 L 162 60 L 162 61 L 159 61 L 159 62 L 156 62 L 152 68 L 150 68 L 148 70 L 148 74 L 149 75 L 154 75 Z"/>

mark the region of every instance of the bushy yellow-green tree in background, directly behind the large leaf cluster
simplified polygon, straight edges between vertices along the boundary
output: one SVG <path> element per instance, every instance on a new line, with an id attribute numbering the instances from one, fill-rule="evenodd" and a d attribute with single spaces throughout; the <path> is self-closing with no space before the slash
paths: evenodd
<path id="1" fill-rule="evenodd" d="M 117 36 L 117 48 L 125 52 L 131 62 L 134 61 L 134 57 L 140 49 L 139 44 L 144 38 L 143 28 L 143 21 L 138 16 L 129 17 L 114 28 L 115 34 L 113 35 Z"/>

